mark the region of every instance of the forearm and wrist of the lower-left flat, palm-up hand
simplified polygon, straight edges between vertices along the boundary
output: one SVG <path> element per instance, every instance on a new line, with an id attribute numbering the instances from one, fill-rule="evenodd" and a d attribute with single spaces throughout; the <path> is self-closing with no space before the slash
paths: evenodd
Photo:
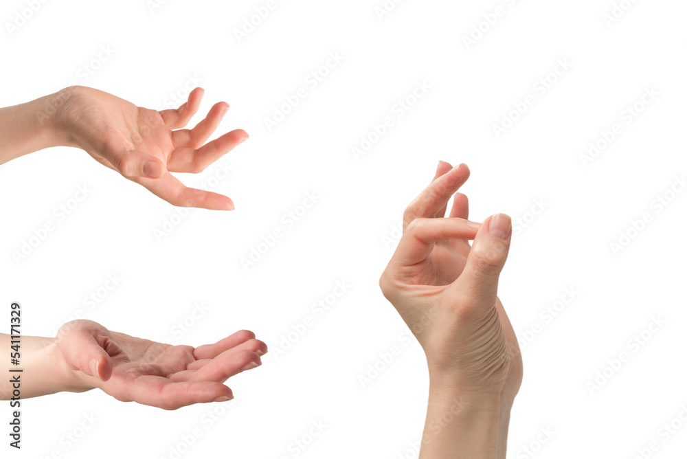
<path id="1" fill-rule="evenodd" d="M 10 400 L 15 389 L 22 399 L 54 394 L 56 392 L 83 392 L 88 390 L 74 372 L 67 368 L 54 338 L 22 336 L 19 344 L 19 365 L 10 361 L 12 346 L 10 335 L 0 333 L 0 399 Z M 10 372 L 19 370 L 21 372 Z M 14 382 L 12 379 L 14 378 Z M 16 382 L 19 378 L 19 382 Z M 19 387 L 16 387 L 19 386 Z"/>

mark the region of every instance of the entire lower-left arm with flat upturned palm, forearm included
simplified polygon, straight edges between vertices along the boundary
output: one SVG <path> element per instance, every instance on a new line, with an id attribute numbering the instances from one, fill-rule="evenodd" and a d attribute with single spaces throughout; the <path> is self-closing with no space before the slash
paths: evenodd
<path id="1" fill-rule="evenodd" d="M 10 335 L 0 334 L 0 348 L 9 350 L 10 344 Z M 260 366 L 267 345 L 242 330 L 197 348 L 171 346 L 74 320 L 56 338 L 21 337 L 19 350 L 21 365 L 2 359 L 0 373 L 23 369 L 21 399 L 97 388 L 119 401 L 177 410 L 233 399 L 225 381 Z M 0 399 L 12 399 L 12 391 L 10 379 L 3 378 Z"/>

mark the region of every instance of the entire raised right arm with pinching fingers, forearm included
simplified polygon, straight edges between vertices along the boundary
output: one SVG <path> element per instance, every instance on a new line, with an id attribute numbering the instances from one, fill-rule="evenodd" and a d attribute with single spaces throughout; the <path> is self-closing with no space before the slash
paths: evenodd
<path id="1" fill-rule="evenodd" d="M 440 162 L 405 210 L 403 237 L 379 280 L 427 357 L 422 459 L 506 458 L 510 409 L 522 381 L 517 339 L 497 297 L 510 217 L 467 220 L 468 199 L 457 191 L 468 177 L 464 164 Z"/>

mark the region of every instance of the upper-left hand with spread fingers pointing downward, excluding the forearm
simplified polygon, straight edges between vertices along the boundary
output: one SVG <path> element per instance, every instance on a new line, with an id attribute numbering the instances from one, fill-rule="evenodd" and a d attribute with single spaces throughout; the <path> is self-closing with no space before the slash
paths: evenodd
<path id="1" fill-rule="evenodd" d="M 205 144 L 229 109 L 214 104 L 205 120 L 182 129 L 198 111 L 203 89 L 196 88 L 179 109 L 150 110 L 109 93 L 74 86 L 53 95 L 55 144 L 86 150 L 96 161 L 148 188 L 172 205 L 233 210 L 228 197 L 188 188 L 170 172 L 202 172 L 248 134 L 236 129 Z"/>

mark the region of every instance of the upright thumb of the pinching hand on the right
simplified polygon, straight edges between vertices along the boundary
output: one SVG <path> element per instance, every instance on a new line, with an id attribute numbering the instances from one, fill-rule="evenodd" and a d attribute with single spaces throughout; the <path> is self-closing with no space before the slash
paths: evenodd
<path id="1" fill-rule="evenodd" d="M 484 221 L 475 236 L 468 258 L 451 289 L 472 304 L 496 302 L 499 274 L 506 264 L 512 224 L 510 216 L 496 214 Z"/>

